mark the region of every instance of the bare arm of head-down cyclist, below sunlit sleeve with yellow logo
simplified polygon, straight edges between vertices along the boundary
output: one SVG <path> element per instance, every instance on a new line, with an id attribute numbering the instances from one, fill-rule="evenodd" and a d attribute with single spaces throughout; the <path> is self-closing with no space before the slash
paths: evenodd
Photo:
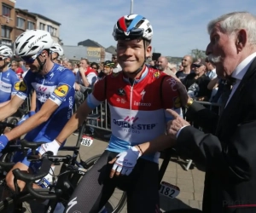
<path id="1" fill-rule="evenodd" d="M 15 127 L 15 129 L 9 131 L 9 133 L 6 134 L 6 137 L 9 139 L 9 141 L 11 141 L 17 137 L 20 137 L 21 135 L 26 134 L 30 130 L 33 130 L 38 125 L 47 121 L 58 107 L 59 106 L 54 101 L 48 99 L 36 114 L 30 118 L 27 118 L 24 123 Z"/>

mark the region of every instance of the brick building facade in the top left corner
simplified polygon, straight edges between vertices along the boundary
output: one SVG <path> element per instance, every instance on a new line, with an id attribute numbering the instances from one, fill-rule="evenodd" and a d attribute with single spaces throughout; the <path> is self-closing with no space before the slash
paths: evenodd
<path id="1" fill-rule="evenodd" d="M 15 0 L 1 0 L 0 8 L 0 24 L 1 24 L 1 38 L 0 44 L 14 47 L 15 41 Z"/>

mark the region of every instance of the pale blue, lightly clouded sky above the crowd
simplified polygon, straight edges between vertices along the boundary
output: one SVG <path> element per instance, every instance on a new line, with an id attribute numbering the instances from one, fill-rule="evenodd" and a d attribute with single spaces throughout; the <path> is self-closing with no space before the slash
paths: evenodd
<path id="1" fill-rule="evenodd" d="M 205 50 L 207 23 L 221 14 L 248 11 L 256 14 L 255 0 L 134 0 L 133 13 L 142 14 L 152 24 L 155 52 L 183 56 L 191 49 Z M 130 0 L 17 0 L 16 8 L 43 14 L 61 23 L 64 45 L 86 39 L 103 47 L 115 46 L 114 23 L 130 13 Z"/>

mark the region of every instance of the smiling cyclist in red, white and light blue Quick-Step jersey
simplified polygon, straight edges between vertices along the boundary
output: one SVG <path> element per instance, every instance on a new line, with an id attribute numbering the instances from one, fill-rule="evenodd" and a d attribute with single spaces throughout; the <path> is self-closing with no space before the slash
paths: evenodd
<path id="1" fill-rule="evenodd" d="M 98 212 L 113 193 L 115 187 L 127 192 L 128 212 L 160 212 L 158 158 L 159 153 L 143 155 L 139 144 L 145 141 L 169 141 L 165 134 L 166 122 L 172 119 L 166 108 L 181 113 L 177 81 L 154 68 L 145 65 L 151 54 L 153 29 L 141 15 L 121 17 L 113 28 L 117 41 L 117 56 L 122 72 L 112 73 L 98 80 L 93 92 L 67 122 L 55 141 L 67 139 L 87 115 L 107 99 L 111 112 L 112 136 L 102 157 L 79 182 L 66 212 Z M 53 143 L 55 143 L 53 141 Z M 113 164 L 110 160 L 126 152 L 137 157 L 137 164 L 130 174 L 110 178 Z M 118 163 L 124 156 L 120 156 Z"/>

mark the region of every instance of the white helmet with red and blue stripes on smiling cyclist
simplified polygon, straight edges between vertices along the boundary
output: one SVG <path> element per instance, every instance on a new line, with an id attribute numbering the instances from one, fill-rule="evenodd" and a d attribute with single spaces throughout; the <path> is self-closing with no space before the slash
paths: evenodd
<path id="1" fill-rule="evenodd" d="M 114 40 L 124 39 L 132 40 L 143 38 L 151 41 L 153 37 L 153 28 L 150 22 L 139 14 L 128 14 L 119 18 L 113 26 Z"/>

